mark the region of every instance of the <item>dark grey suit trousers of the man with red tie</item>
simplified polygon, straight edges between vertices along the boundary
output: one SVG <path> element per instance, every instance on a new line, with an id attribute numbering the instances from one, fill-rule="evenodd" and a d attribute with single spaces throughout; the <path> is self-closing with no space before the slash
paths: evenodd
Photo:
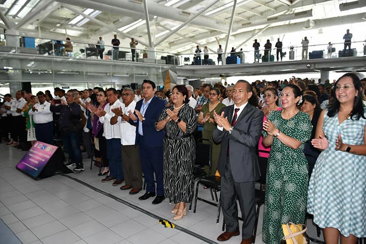
<path id="1" fill-rule="evenodd" d="M 255 188 L 254 182 L 235 182 L 230 167 L 230 159 L 227 158 L 225 172 L 221 176 L 221 204 L 226 223 L 226 231 L 239 230 L 238 206 L 239 199 L 243 225 L 241 235 L 243 239 L 253 234 L 255 225 Z"/>

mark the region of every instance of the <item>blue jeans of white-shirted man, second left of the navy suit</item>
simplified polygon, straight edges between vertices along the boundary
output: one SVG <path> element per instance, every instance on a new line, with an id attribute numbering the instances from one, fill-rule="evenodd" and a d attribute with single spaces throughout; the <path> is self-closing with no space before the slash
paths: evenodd
<path id="1" fill-rule="evenodd" d="M 109 177 L 116 177 L 117 180 L 124 180 L 122 168 L 121 139 L 107 139 L 107 158 L 109 161 Z"/>

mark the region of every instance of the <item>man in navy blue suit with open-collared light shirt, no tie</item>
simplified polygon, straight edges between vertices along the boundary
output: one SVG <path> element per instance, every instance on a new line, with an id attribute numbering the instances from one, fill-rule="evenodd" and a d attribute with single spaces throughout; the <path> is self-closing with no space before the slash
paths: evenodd
<path id="1" fill-rule="evenodd" d="M 135 144 L 139 146 L 142 172 L 146 181 L 146 192 L 138 199 L 146 200 L 156 195 L 153 204 L 160 204 L 164 197 L 163 186 L 163 140 L 164 131 L 155 129 L 155 122 L 165 107 L 165 102 L 155 97 L 156 85 L 151 80 L 143 80 L 144 99 L 136 103 L 135 112 L 128 111 L 129 123 L 136 126 Z M 156 191 L 154 182 L 156 178 Z"/>

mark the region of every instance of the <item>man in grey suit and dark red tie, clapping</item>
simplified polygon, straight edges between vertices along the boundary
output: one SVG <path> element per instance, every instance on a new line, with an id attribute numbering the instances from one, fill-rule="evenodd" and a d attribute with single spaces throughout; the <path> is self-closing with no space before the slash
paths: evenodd
<path id="1" fill-rule="evenodd" d="M 221 174 L 221 202 L 226 222 L 226 231 L 217 237 L 220 241 L 240 234 L 237 198 L 244 220 L 241 244 L 252 241 L 254 181 L 260 178 L 256 148 L 263 124 L 263 112 L 248 103 L 252 95 L 251 85 L 239 80 L 233 90 L 234 105 L 223 108 L 220 114 L 214 112 L 217 128 L 213 140 L 221 142 L 217 170 Z"/>

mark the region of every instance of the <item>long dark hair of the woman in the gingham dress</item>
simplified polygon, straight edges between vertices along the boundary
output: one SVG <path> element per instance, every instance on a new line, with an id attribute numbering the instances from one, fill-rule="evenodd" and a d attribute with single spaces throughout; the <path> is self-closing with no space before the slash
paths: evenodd
<path id="1" fill-rule="evenodd" d="M 334 100 L 331 104 L 328 105 L 328 112 L 326 115 L 328 115 L 329 117 L 334 117 L 336 116 L 336 114 L 338 114 L 340 102 L 338 101 L 336 96 L 336 86 L 339 80 L 342 79 L 343 77 L 350 77 L 352 79 L 354 88 L 358 91 L 358 96 L 355 97 L 353 101 L 352 111 L 349 114 L 350 118 L 353 120 L 353 116 L 356 116 L 356 120 L 360 119 L 360 117 L 366 119 L 364 115 L 364 105 L 362 104 L 362 85 L 358 76 L 354 73 L 346 73 L 337 80 L 336 84 L 332 89 L 332 96 L 334 97 Z"/>

